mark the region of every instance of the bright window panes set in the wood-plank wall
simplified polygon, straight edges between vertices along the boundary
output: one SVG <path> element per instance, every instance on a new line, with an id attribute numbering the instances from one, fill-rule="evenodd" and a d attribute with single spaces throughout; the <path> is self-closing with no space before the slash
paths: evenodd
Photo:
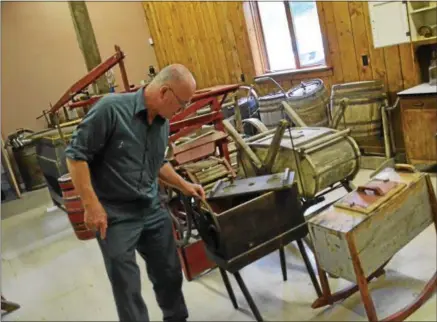
<path id="1" fill-rule="evenodd" d="M 254 2 L 265 72 L 326 65 L 316 1 Z"/>

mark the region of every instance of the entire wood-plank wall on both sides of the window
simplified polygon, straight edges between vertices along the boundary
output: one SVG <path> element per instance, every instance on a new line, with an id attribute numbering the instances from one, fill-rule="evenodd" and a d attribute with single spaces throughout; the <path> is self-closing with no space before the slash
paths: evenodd
<path id="1" fill-rule="evenodd" d="M 187 65 L 199 88 L 239 82 L 242 73 L 251 83 L 257 57 L 249 42 L 245 6 L 243 2 L 144 2 L 159 66 Z M 317 7 L 332 69 L 282 76 L 284 88 L 311 78 L 322 79 L 328 89 L 338 83 L 382 79 L 393 103 L 398 91 L 420 83 L 409 44 L 373 48 L 367 2 L 320 1 Z M 363 66 L 363 55 L 369 58 L 368 66 Z M 258 90 L 264 94 L 275 87 L 265 84 Z M 396 141 L 403 145 L 399 113 L 394 122 Z"/>

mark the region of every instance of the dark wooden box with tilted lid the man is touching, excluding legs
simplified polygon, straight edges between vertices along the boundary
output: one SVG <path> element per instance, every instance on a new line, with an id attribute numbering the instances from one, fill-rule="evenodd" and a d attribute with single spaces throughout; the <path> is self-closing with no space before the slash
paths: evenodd
<path id="1" fill-rule="evenodd" d="M 196 222 L 207 250 L 218 258 L 231 260 L 254 249 L 268 248 L 272 240 L 289 243 L 308 234 L 294 173 L 286 171 L 218 186 L 223 188 L 208 198 L 211 209 L 204 209 Z"/>

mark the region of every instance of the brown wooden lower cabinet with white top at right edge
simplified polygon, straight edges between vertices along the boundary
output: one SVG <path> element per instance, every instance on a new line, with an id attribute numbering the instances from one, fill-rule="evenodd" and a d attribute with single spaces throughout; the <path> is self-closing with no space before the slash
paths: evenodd
<path id="1" fill-rule="evenodd" d="M 421 84 L 398 93 L 407 160 L 437 163 L 437 88 Z"/>

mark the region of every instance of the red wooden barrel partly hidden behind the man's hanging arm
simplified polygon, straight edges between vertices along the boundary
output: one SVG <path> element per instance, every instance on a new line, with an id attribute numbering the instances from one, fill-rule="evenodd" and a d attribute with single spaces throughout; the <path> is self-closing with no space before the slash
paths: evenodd
<path id="1" fill-rule="evenodd" d="M 96 233 L 85 225 L 82 200 L 74 188 L 70 174 L 64 174 L 58 179 L 62 190 L 64 206 L 76 237 L 80 240 L 89 240 L 96 237 Z"/>

